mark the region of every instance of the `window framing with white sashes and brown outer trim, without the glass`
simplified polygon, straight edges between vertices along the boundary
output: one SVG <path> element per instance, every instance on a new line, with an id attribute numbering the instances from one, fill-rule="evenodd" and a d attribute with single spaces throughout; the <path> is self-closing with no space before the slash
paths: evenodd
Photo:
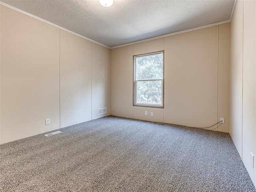
<path id="1" fill-rule="evenodd" d="M 136 58 L 143 57 L 143 56 L 150 56 L 162 54 L 163 55 L 163 78 L 162 79 L 144 79 L 144 80 L 137 80 L 136 75 Z M 145 103 L 137 103 L 137 82 L 145 82 L 145 81 L 161 81 L 162 83 L 162 104 L 145 104 Z M 144 107 L 156 107 L 156 108 L 164 108 L 164 51 L 152 52 L 148 54 L 141 54 L 141 55 L 134 55 L 133 56 L 133 106 L 144 106 Z"/>

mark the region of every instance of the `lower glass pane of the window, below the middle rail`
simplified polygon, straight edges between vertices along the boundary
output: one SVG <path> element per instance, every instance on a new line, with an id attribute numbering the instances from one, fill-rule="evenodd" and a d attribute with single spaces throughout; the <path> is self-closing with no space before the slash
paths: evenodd
<path id="1" fill-rule="evenodd" d="M 137 81 L 137 103 L 162 105 L 162 81 Z"/>

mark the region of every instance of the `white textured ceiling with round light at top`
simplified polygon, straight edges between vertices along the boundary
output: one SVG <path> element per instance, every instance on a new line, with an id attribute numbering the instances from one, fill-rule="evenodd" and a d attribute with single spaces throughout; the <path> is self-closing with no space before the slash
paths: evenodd
<path id="1" fill-rule="evenodd" d="M 234 0 L 1 0 L 113 47 L 229 20 Z"/>

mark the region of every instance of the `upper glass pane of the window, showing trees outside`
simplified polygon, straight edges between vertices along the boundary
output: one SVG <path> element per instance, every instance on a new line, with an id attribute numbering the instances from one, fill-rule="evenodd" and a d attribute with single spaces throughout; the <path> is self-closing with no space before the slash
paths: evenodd
<path id="1" fill-rule="evenodd" d="M 163 78 L 163 53 L 136 57 L 136 80 Z"/>

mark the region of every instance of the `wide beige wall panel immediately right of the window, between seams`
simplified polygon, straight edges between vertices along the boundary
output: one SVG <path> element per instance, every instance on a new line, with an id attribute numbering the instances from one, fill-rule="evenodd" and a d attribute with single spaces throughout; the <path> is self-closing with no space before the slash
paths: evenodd
<path id="1" fill-rule="evenodd" d="M 167 37 L 164 45 L 164 121 L 192 127 L 215 124 L 218 26 Z"/>

